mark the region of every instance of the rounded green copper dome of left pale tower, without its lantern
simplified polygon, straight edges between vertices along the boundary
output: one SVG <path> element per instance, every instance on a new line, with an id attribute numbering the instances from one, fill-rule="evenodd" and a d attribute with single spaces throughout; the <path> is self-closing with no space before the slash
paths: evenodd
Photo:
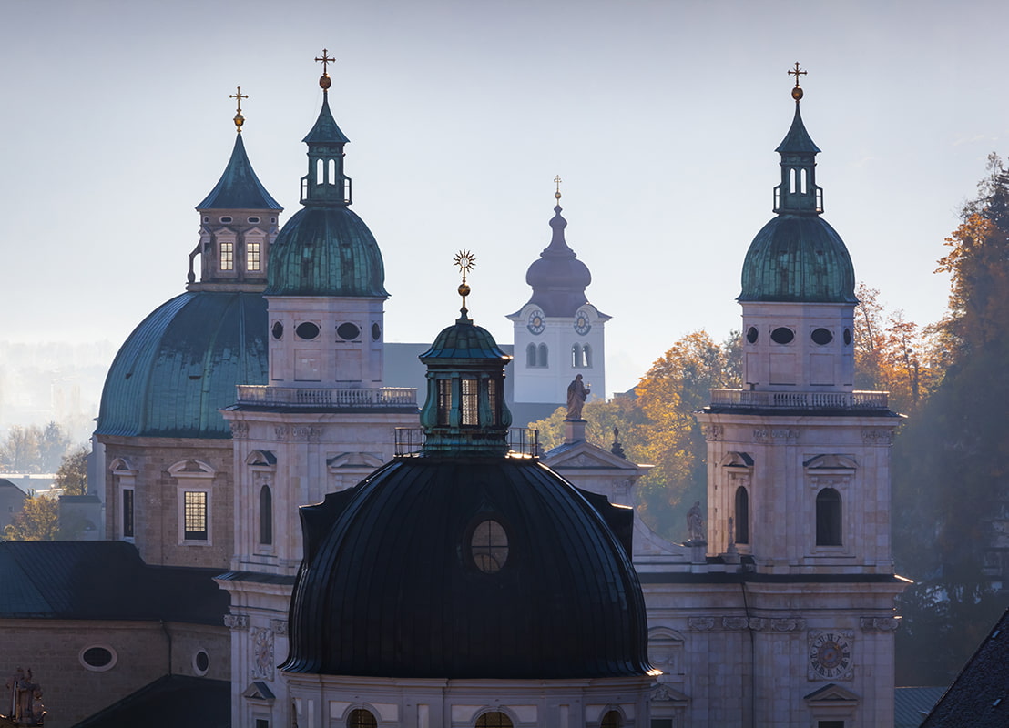
<path id="1" fill-rule="evenodd" d="M 269 249 L 266 295 L 387 297 L 374 236 L 346 207 L 306 207 Z"/>

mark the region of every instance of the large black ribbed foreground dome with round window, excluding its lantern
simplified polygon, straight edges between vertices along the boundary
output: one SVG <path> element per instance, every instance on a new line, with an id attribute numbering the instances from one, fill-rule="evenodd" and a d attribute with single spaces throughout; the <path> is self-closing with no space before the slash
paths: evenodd
<path id="1" fill-rule="evenodd" d="M 592 499 L 592 502 L 589 502 Z M 632 511 L 530 458 L 406 457 L 302 508 L 293 673 L 591 679 L 649 670 Z M 496 521 L 499 571 L 474 561 Z"/>

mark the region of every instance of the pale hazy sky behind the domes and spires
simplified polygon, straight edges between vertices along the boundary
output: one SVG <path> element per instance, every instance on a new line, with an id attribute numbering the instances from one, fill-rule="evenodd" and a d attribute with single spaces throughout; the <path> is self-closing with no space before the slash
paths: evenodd
<path id="1" fill-rule="evenodd" d="M 944 0 L 3 0 L 0 312 L 7 341 L 109 340 L 183 292 L 194 210 L 243 137 L 299 209 L 322 102 L 353 210 L 382 250 L 388 341 L 470 316 L 501 343 L 550 241 L 592 271 L 607 393 L 678 338 L 740 325 L 740 270 L 773 217 L 775 147 L 802 115 L 824 218 L 889 309 L 938 320 L 933 273 L 990 152 L 1009 154 L 1009 4 Z"/>

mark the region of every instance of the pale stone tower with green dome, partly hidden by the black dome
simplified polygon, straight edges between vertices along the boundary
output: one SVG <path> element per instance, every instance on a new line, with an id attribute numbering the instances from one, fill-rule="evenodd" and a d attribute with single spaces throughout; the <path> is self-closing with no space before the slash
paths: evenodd
<path id="1" fill-rule="evenodd" d="M 231 594 L 232 725 L 291 724 L 275 671 L 302 560 L 299 506 L 342 491 L 389 460 L 395 432 L 417 424 L 417 392 L 382 386 L 384 269 L 350 211 L 347 137 L 329 106 L 305 137 L 303 208 L 269 252 L 266 384 L 238 386 L 224 410 L 234 442 L 234 550 L 217 578 Z M 268 332 L 268 334 L 267 334 Z"/>

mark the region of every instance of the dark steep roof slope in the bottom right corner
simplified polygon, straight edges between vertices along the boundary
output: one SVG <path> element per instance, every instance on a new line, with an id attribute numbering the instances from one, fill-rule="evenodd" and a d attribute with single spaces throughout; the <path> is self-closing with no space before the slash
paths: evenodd
<path id="1" fill-rule="evenodd" d="M 1005 726 L 1009 726 L 1009 609 L 921 724 L 921 728 Z"/>

